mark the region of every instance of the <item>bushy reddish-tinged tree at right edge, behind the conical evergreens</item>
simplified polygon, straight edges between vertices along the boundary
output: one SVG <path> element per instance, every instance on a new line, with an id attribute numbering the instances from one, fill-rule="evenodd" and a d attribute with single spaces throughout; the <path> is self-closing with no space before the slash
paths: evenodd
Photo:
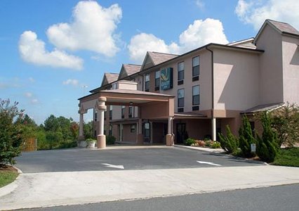
<path id="1" fill-rule="evenodd" d="M 293 146 L 299 142 L 299 107 L 286 104 L 270 113 L 272 127 L 277 132 L 278 144 Z"/>

